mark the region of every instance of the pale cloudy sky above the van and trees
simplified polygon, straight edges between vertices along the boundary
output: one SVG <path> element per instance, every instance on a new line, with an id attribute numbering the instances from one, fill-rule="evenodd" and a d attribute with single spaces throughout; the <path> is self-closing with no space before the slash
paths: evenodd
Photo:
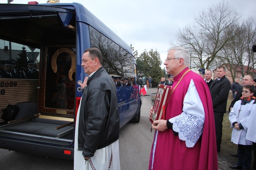
<path id="1" fill-rule="evenodd" d="M 47 0 L 14 0 L 11 3 L 27 4 L 28 1 L 46 3 Z M 60 3 L 78 2 L 98 17 L 139 54 L 146 49 L 157 50 L 162 63 L 167 56 L 169 41 L 175 42 L 175 33 L 194 16 L 210 5 L 222 0 L 60 0 Z M 227 1 L 227 0 L 224 0 Z M 0 0 L 7 3 L 7 0 Z M 256 0 L 229 0 L 230 6 L 243 16 L 256 17 Z M 29 50 L 28 50 L 29 51 Z M 163 67 L 163 65 L 162 65 Z"/>

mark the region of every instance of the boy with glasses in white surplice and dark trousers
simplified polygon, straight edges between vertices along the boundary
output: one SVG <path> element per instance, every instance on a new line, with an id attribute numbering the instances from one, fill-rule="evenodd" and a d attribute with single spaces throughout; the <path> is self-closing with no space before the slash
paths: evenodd
<path id="1" fill-rule="evenodd" d="M 251 114 L 251 108 L 255 97 L 254 88 L 251 85 L 245 85 L 242 90 L 242 97 L 238 100 L 229 114 L 231 128 L 233 128 L 231 141 L 238 145 L 238 161 L 235 166 L 229 166 L 232 169 L 250 169 L 252 162 L 252 141 L 245 139 L 247 133 L 247 123 Z"/>

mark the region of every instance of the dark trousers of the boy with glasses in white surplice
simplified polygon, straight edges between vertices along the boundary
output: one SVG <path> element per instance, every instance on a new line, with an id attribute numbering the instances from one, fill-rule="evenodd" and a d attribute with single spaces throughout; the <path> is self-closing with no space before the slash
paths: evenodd
<path id="1" fill-rule="evenodd" d="M 252 145 L 240 145 L 238 144 L 237 148 L 237 165 L 242 166 L 243 169 L 250 170 L 252 163 Z"/>

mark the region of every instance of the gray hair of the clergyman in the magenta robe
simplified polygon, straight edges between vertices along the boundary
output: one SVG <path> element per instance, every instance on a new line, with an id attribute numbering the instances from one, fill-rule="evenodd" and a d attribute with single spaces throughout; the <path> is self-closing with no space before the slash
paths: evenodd
<path id="1" fill-rule="evenodd" d="M 184 66 L 190 67 L 190 54 L 188 53 L 188 51 L 185 48 L 183 48 L 181 46 L 175 46 L 175 47 L 169 48 L 167 50 L 167 52 L 169 52 L 171 50 L 175 50 L 175 52 L 174 52 L 174 57 L 176 58 L 175 60 L 178 60 L 179 58 L 183 58 Z"/>

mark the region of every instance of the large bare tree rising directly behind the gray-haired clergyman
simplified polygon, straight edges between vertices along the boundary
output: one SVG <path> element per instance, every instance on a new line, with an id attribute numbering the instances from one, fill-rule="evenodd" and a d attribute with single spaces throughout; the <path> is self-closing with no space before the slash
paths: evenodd
<path id="1" fill-rule="evenodd" d="M 177 43 L 191 53 L 191 68 L 211 69 L 220 65 L 219 52 L 236 36 L 232 27 L 240 21 L 236 9 L 222 1 L 194 17 L 193 25 L 187 25 L 176 33 Z M 172 43 L 170 43 L 172 44 Z"/>

